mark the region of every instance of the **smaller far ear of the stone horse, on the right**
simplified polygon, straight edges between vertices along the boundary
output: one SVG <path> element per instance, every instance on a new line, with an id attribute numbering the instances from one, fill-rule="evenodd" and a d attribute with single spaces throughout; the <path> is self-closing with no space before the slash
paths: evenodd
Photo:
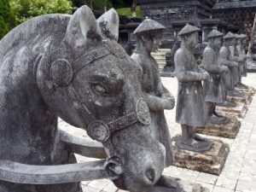
<path id="1" fill-rule="evenodd" d="M 119 39 L 119 15 L 115 9 L 109 9 L 103 14 L 97 22 L 102 30 L 105 38 L 110 38 L 115 41 Z"/>

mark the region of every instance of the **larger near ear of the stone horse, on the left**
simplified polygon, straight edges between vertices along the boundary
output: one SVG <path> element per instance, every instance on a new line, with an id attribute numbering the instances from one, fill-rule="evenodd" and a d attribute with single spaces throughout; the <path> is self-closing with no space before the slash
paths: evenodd
<path id="1" fill-rule="evenodd" d="M 97 44 L 102 41 L 100 27 L 90 8 L 86 5 L 79 8 L 67 24 L 65 36 L 67 44 L 79 48 L 86 44 Z"/>

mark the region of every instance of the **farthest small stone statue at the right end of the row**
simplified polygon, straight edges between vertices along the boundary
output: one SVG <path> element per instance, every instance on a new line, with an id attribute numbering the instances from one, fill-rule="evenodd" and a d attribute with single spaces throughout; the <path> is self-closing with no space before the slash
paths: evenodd
<path id="1" fill-rule="evenodd" d="M 238 51 L 238 55 L 241 58 L 240 65 L 240 79 L 236 86 L 240 88 L 248 88 L 246 84 L 241 83 L 241 77 L 247 77 L 247 55 L 244 49 L 244 46 L 247 44 L 247 36 L 245 34 L 236 35 L 236 49 Z"/>

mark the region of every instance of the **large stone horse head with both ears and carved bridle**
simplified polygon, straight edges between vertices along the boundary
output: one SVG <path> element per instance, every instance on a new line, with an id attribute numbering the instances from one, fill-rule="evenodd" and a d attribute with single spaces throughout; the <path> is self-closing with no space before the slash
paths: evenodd
<path id="1" fill-rule="evenodd" d="M 103 144 L 114 183 L 143 192 L 160 178 L 165 148 L 143 100 L 142 68 L 117 44 L 118 29 L 113 9 L 96 20 L 79 8 L 38 64 L 38 87 L 56 115 Z"/>

